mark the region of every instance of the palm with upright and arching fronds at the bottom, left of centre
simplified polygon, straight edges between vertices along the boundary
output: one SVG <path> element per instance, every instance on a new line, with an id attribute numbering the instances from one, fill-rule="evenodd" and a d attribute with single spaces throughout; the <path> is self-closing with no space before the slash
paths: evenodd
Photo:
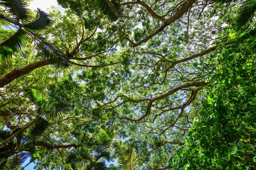
<path id="1" fill-rule="evenodd" d="M 109 161 L 110 152 L 108 147 L 110 146 L 111 137 L 105 130 L 101 130 L 96 142 L 95 150 L 91 153 L 88 151 L 77 150 L 67 156 L 65 163 L 65 169 L 77 170 L 82 163 L 85 164 L 82 167 L 84 170 L 106 170 L 106 164 L 104 159 Z M 70 168 L 71 167 L 71 168 Z"/>

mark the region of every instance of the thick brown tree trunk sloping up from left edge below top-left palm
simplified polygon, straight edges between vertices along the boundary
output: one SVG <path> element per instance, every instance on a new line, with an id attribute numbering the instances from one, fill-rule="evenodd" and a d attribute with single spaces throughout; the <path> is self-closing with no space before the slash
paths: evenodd
<path id="1" fill-rule="evenodd" d="M 23 76 L 25 74 L 28 74 L 29 72 L 35 70 L 36 68 L 49 65 L 49 60 L 42 60 L 37 61 L 35 63 L 29 64 L 25 67 L 14 69 L 5 76 L 0 78 L 0 88 L 4 87 L 5 85 L 11 83 L 16 78 L 19 78 L 20 76 Z"/>

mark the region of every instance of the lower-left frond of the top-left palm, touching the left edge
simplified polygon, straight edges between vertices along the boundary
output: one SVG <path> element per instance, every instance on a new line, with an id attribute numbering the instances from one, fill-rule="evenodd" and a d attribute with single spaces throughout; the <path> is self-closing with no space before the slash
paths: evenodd
<path id="1" fill-rule="evenodd" d="M 17 31 L 11 31 L 12 35 L 0 44 L 0 62 L 8 61 L 12 58 L 13 52 L 25 46 L 28 36 L 21 27 Z"/>

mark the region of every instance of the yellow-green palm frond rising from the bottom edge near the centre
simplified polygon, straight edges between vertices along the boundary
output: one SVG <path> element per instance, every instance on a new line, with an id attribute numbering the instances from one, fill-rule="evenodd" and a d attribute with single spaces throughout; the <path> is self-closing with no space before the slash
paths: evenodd
<path id="1" fill-rule="evenodd" d="M 135 159 L 135 153 L 133 148 L 127 149 L 119 157 L 119 169 L 120 170 L 135 170 L 137 169 L 137 160 Z"/>

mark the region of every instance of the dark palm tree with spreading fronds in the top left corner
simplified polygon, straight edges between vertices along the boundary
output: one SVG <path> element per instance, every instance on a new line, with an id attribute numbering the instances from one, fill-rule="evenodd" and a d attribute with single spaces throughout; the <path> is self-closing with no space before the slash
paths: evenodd
<path id="1" fill-rule="evenodd" d="M 35 45 L 40 47 L 43 55 L 49 59 L 49 63 L 56 67 L 64 68 L 70 64 L 69 59 L 57 50 L 47 38 L 40 35 L 40 31 L 52 24 L 49 14 L 37 8 L 37 18 L 32 22 L 32 15 L 27 4 L 22 0 L 1 0 L 0 6 L 4 7 L 9 17 L 0 14 L 0 19 L 12 23 L 16 30 L 11 30 L 9 38 L 0 42 L 0 62 L 8 61 L 12 58 L 13 52 L 25 46 L 26 41 L 32 38 Z"/>

